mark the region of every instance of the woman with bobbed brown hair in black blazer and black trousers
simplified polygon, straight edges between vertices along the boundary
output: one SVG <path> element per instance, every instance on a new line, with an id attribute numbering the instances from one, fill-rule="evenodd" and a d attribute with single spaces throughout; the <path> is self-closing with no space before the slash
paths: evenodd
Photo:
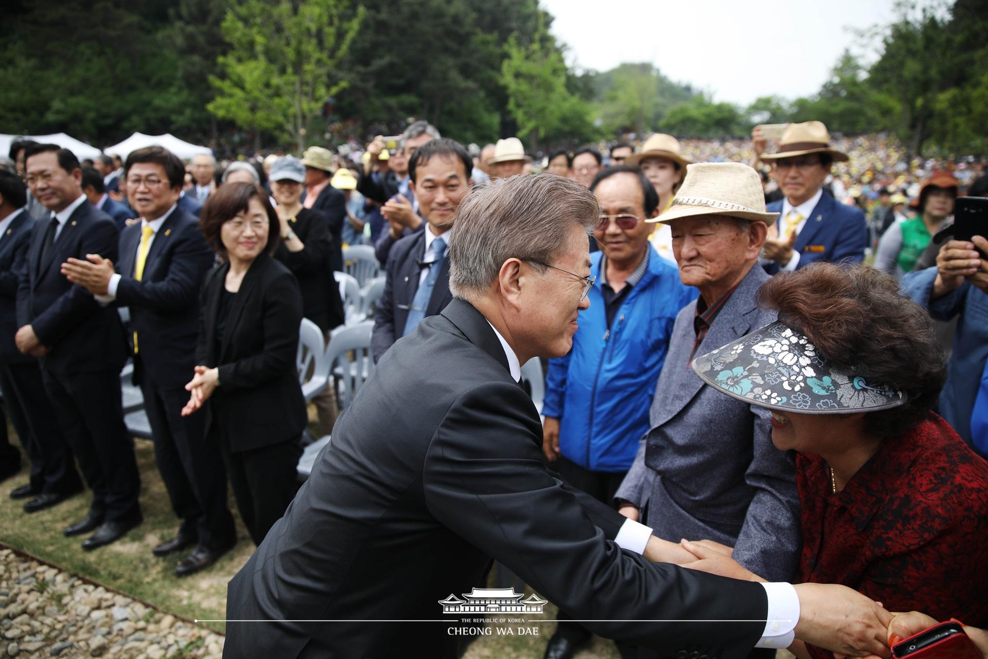
<path id="1" fill-rule="evenodd" d="M 240 517 L 260 544 L 297 489 L 307 421 L 295 367 L 301 294 L 269 256 L 279 221 L 263 188 L 222 186 L 209 196 L 201 224 L 224 263 L 203 283 L 200 366 L 182 414 L 206 407 L 208 437 L 219 443 Z"/>

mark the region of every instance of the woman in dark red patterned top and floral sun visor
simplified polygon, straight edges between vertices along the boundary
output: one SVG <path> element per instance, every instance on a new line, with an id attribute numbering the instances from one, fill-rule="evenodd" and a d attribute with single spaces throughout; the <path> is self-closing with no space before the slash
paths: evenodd
<path id="1" fill-rule="evenodd" d="M 931 411 L 946 369 L 927 313 L 866 266 L 782 273 L 758 299 L 779 321 L 693 368 L 727 395 L 772 410 L 773 443 L 796 452 L 797 581 L 849 586 L 889 611 L 984 626 L 988 462 Z M 683 545 L 698 559 L 687 567 L 762 580 L 730 547 Z"/>

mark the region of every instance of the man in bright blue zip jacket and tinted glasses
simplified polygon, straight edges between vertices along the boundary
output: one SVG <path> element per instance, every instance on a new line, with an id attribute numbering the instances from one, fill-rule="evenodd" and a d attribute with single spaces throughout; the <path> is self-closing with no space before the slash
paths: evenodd
<path id="1" fill-rule="evenodd" d="M 601 206 L 588 294 L 569 355 L 549 361 L 542 450 L 569 484 L 611 504 L 638 444 L 666 359 L 676 314 L 697 297 L 648 241 L 659 198 L 641 171 L 601 171 L 590 190 Z M 546 657 L 572 656 L 590 631 L 559 613 Z"/>

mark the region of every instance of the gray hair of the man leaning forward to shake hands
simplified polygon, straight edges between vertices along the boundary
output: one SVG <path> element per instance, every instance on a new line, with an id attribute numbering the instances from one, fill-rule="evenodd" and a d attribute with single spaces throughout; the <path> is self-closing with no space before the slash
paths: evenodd
<path id="1" fill-rule="evenodd" d="M 513 176 L 475 189 L 456 209 L 450 290 L 456 297 L 475 297 L 511 258 L 552 263 L 570 247 L 570 229 L 593 230 L 600 212 L 592 192 L 552 174 Z"/>

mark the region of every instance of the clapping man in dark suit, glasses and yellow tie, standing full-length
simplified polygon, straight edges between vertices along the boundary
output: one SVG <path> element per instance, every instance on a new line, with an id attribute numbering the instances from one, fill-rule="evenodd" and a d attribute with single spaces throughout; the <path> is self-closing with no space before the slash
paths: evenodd
<path id="1" fill-rule="evenodd" d="M 176 155 L 161 146 L 137 149 L 124 173 L 141 219 L 121 233 L 119 263 L 90 254 L 68 259 L 61 271 L 101 303 L 130 309 L 133 378 L 144 394 L 158 469 L 182 520 L 178 535 L 152 552 L 165 556 L 194 546 L 175 570 L 184 576 L 213 563 L 236 540 L 223 461 L 219 447 L 206 441 L 206 417 L 180 414 L 196 366 L 199 290 L 213 254 L 197 219 L 178 207 L 185 168 Z"/>

